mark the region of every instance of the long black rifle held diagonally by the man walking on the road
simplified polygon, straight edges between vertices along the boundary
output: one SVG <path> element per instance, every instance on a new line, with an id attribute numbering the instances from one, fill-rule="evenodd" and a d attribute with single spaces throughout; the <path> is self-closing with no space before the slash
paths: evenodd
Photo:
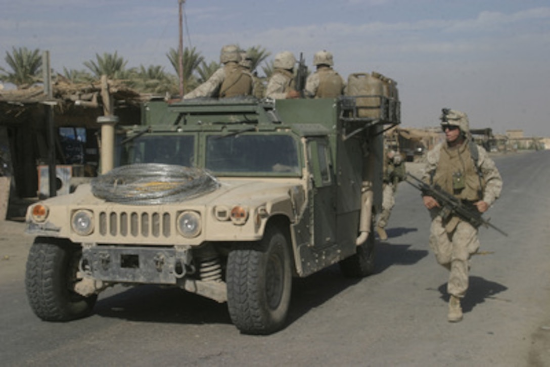
<path id="1" fill-rule="evenodd" d="M 423 182 L 420 178 L 415 177 L 414 175 L 407 172 L 407 178 L 412 178 L 415 180 L 416 184 L 410 182 L 408 179 L 405 179 L 412 187 L 420 190 L 423 196 L 431 196 L 436 199 L 436 201 L 441 205 L 441 216 L 445 220 L 451 215 L 456 215 L 462 220 L 469 222 L 472 226 L 478 228 L 491 227 L 500 234 L 508 237 L 508 233 L 504 232 L 502 229 L 493 226 L 489 223 L 488 220 L 483 219 L 481 213 L 477 210 L 477 207 L 471 202 L 464 202 L 460 199 L 455 198 L 453 195 L 444 191 L 439 185 L 428 185 Z"/>

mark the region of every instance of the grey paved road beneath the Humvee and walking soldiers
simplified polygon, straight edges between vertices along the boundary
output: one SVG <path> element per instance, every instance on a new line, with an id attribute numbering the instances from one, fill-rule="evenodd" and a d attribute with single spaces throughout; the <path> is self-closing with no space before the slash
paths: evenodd
<path id="1" fill-rule="evenodd" d="M 489 216 L 510 235 L 481 229 L 458 324 L 447 322 L 427 212 L 401 184 L 376 274 L 352 281 L 331 267 L 296 280 L 289 325 L 263 337 L 240 335 L 223 304 L 150 286 L 101 294 L 87 319 L 42 322 L 24 291 L 32 238 L 23 223 L 0 223 L 0 364 L 550 365 L 550 152 L 495 160 L 504 190 Z"/>

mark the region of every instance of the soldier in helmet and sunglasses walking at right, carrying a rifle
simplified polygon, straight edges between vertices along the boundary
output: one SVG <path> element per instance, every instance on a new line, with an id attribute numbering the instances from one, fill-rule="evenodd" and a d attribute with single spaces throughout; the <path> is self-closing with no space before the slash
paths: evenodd
<path id="1" fill-rule="evenodd" d="M 440 119 L 445 141 L 428 152 L 422 181 L 484 213 L 499 197 L 502 177 L 485 149 L 472 140 L 466 113 L 443 108 Z M 423 193 L 422 200 L 432 218 L 430 248 L 449 270 L 448 321 L 458 322 L 463 319 L 461 299 L 469 286 L 470 258 L 480 248 L 478 226 L 445 210 L 430 193 Z"/>

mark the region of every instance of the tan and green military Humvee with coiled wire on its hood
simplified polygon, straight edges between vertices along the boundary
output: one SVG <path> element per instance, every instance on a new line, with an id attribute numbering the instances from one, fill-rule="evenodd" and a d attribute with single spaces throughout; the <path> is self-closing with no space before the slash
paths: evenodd
<path id="1" fill-rule="evenodd" d="M 160 284 L 266 334 L 285 325 L 293 277 L 371 274 L 383 131 L 399 123 L 399 102 L 376 99 L 146 103 L 113 139 L 112 171 L 29 207 L 32 310 L 72 320 L 107 287 Z"/>

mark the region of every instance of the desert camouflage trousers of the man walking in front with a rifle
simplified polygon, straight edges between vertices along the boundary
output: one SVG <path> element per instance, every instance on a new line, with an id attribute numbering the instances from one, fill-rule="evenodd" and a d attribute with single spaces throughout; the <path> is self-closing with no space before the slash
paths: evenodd
<path id="1" fill-rule="evenodd" d="M 470 257 L 480 248 L 477 228 L 460 221 L 453 232 L 447 233 L 441 216 L 432 220 L 430 248 L 439 264 L 449 270 L 447 292 L 462 298 L 468 289 Z"/>

